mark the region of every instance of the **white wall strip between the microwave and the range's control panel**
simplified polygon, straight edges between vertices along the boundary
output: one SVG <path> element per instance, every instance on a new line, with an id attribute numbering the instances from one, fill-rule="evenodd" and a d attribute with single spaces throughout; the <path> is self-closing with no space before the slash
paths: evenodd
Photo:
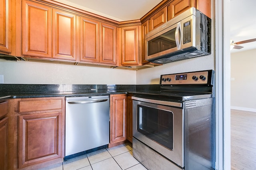
<path id="1" fill-rule="evenodd" d="M 214 63 L 213 55 L 208 55 L 138 70 L 136 84 L 159 84 L 161 74 L 214 70 Z"/>

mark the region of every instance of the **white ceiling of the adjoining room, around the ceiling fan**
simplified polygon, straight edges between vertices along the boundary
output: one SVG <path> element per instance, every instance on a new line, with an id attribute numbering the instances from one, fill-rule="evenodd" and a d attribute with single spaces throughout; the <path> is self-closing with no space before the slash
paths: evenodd
<path id="1" fill-rule="evenodd" d="M 230 38 L 234 42 L 256 38 L 256 1 L 230 0 Z M 256 49 L 256 41 L 241 44 L 242 49 L 232 49 L 231 53 Z"/>

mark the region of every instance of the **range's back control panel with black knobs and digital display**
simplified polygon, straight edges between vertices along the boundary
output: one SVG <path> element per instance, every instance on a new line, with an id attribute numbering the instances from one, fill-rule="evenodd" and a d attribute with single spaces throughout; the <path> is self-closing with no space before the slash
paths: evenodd
<path id="1" fill-rule="evenodd" d="M 161 75 L 160 85 L 172 84 L 209 84 L 212 70 Z"/>

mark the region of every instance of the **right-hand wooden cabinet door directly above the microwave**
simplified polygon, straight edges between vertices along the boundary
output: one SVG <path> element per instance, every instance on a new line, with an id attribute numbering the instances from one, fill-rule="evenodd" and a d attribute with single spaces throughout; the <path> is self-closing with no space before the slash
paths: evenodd
<path id="1" fill-rule="evenodd" d="M 167 6 L 168 21 L 195 5 L 195 0 L 174 0 Z"/>

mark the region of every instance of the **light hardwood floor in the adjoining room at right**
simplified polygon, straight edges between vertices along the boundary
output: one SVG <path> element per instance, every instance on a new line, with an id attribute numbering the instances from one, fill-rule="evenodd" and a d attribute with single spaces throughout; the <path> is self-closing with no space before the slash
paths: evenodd
<path id="1" fill-rule="evenodd" d="M 256 170 L 256 112 L 231 109 L 231 170 Z"/>

